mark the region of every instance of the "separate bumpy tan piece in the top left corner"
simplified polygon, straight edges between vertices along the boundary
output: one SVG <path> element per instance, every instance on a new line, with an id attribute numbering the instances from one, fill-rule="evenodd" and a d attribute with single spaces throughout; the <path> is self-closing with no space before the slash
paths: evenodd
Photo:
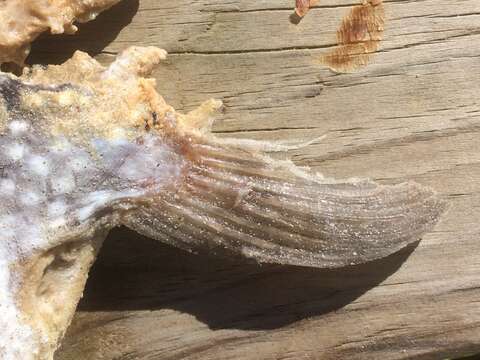
<path id="1" fill-rule="evenodd" d="M 120 0 L 3 0 L 0 1 L 0 64 L 23 65 L 30 43 L 44 31 L 77 31 L 75 21 L 93 20 Z"/>

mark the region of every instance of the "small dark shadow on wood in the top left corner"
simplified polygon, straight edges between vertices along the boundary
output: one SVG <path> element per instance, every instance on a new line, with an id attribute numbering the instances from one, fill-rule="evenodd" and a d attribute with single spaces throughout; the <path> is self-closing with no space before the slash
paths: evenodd
<path id="1" fill-rule="evenodd" d="M 116 39 L 125 26 L 131 23 L 139 5 L 139 0 L 120 1 L 98 15 L 95 20 L 78 24 L 78 31 L 74 35 L 42 34 L 33 42 L 27 63 L 62 64 L 77 50 L 87 52 L 91 56 L 98 55 Z"/>

